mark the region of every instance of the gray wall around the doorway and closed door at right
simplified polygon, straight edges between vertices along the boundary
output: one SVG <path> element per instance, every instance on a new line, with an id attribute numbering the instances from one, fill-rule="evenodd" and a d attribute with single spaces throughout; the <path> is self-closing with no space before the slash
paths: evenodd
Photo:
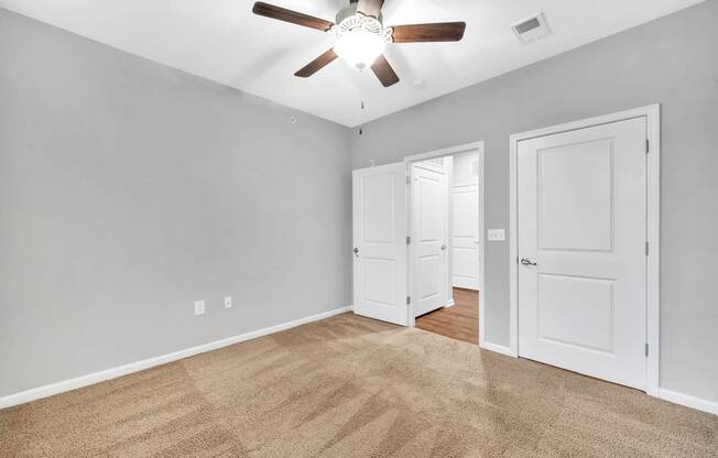
<path id="1" fill-rule="evenodd" d="M 371 122 L 353 167 L 486 141 L 486 227 L 509 227 L 509 135 L 662 105 L 661 384 L 718 401 L 718 3 Z M 509 344 L 509 247 L 486 247 L 487 336 Z"/>

